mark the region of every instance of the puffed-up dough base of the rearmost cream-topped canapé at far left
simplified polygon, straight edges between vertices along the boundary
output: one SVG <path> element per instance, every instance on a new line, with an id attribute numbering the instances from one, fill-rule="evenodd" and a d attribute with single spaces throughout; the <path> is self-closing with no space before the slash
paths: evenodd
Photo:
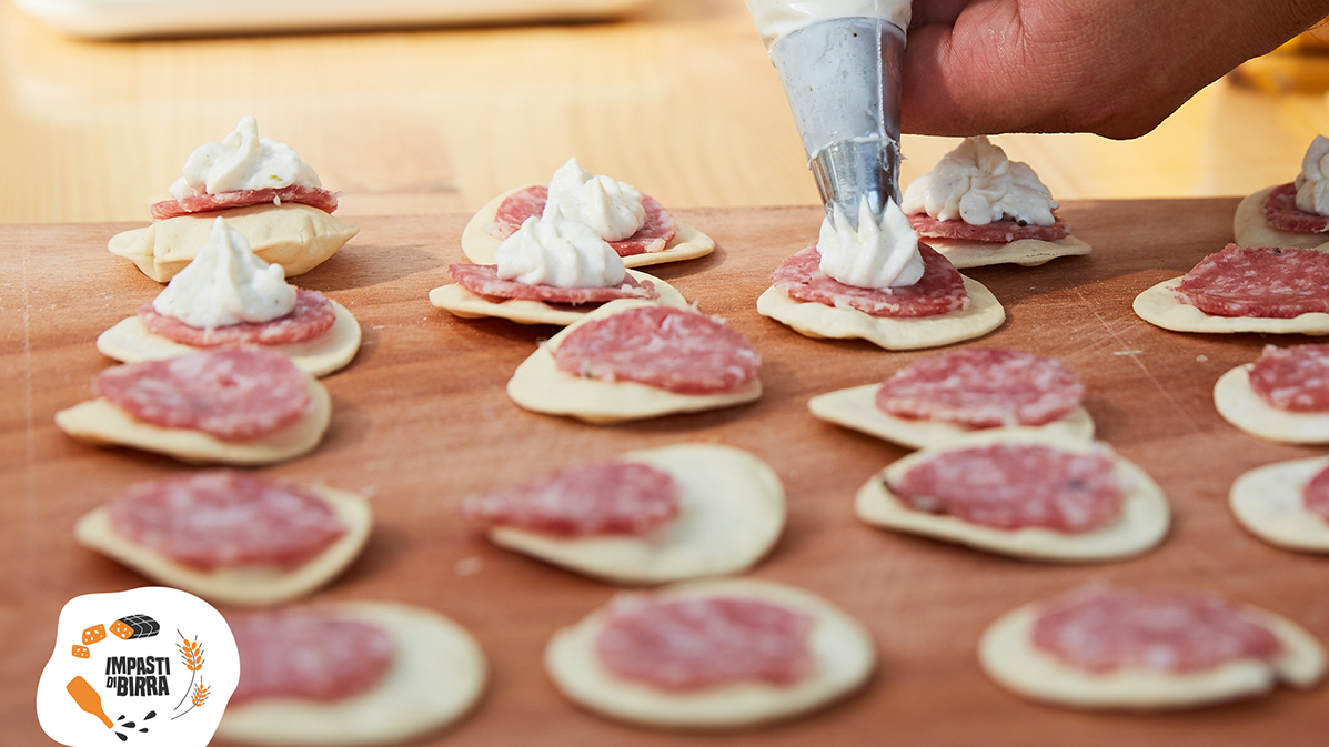
<path id="1" fill-rule="evenodd" d="M 110 237 L 106 249 L 133 261 L 158 283 L 169 282 L 207 243 L 218 217 L 239 231 L 254 254 L 268 265 L 280 265 L 287 278 L 308 272 L 351 241 L 359 226 L 295 202 L 251 205 L 197 215 L 157 221 Z"/>

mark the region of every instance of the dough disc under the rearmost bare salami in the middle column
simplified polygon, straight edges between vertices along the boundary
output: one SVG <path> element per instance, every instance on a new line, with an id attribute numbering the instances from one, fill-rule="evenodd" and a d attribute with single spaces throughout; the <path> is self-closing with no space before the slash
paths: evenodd
<path id="1" fill-rule="evenodd" d="M 637 381 L 601 381 L 574 376 L 554 362 L 553 351 L 582 324 L 611 316 L 637 306 L 654 306 L 650 300 L 623 299 L 601 306 L 581 320 L 550 338 L 530 358 L 521 362 L 508 380 L 508 396 L 520 407 L 546 415 L 566 415 L 586 423 L 619 423 L 645 420 L 678 412 L 719 409 L 755 401 L 762 397 L 759 379 L 732 392 L 718 395 L 679 395 Z"/>

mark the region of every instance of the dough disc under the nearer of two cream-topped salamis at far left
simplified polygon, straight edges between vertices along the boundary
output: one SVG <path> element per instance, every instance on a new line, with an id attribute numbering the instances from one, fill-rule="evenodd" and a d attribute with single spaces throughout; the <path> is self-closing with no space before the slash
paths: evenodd
<path id="1" fill-rule="evenodd" d="M 340 371 L 360 351 L 360 323 L 335 300 L 332 300 L 332 310 L 336 312 L 336 320 L 332 322 L 332 327 L 327 332 L 318 338 L 303 343 L 262 347 L 284 352 L 296 368 L 310 376 L 327 376 Z M 140 363 L 165 360 L 207 348 L 186 346 L 150 332 L 138 320 L 138 316 L 130 316 L 102 332 L 97 338 L 97 350 L 106 358 L 114 358 L 121 363 Z"/>

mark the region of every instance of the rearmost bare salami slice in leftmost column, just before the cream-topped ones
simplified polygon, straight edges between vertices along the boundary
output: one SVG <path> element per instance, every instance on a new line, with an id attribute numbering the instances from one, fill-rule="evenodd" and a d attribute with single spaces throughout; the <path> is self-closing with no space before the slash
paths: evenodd
<path id="1" fill-rule="evenodd" d="M 280 431 L 310 407 L 308 376 L 280 352 L 205 350 L 108 368 L 92 383 L 136 420 L 247 441 Z"/>

